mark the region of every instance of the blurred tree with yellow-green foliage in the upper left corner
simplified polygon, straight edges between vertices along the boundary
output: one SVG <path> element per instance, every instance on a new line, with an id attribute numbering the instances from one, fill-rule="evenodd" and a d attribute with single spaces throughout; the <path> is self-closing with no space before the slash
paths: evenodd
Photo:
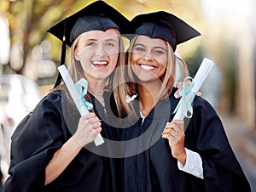
<path id="1" fill-rule="evenodd" d="M 5 1 L 7 2 L 7 1 Z M 2 6 L 0 3 L 0 6 Z M 11 58 L 9 67 L 15 73 L 23 74 L 32 48 L 46 37 L 46 30 L 72 7 L 71 1 L 24 0 L 9 2 L 8 19 L 11 37 Z"/>

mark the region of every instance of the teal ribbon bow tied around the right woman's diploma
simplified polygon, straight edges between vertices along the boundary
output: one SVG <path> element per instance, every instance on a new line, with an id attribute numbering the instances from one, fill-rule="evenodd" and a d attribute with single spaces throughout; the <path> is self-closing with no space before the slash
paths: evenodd
<path id="1" fill-rule="evenodd" d="M 179 100 L 175 110 L 173 113 L 176 113 L 179 108 L 181 108 L 181 113 L 183 116 L 191 118 L 193 115 L 193 107 L 192 107 L 192 101 L 195 98 L 194 92 L 192 92 L 192 88 L 195 86 L 195 82 L 191 82 L 189 87 L 186 87 L 186 81 L 193 80 L 192 77 L 187 76 L 183 81 L 183 89 L 179 91 L 179 95 L 181 96 L 181 99 Z"/>

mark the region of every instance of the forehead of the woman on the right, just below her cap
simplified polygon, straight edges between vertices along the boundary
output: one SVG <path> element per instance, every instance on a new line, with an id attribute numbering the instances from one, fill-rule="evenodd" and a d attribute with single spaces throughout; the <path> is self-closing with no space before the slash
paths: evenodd
<path id="1" fill-rule="evenodd" d="M 151 38 L 144 35 L 138 35 L 135 41 L 135 44 L 143 44 L 145 46 L 152 46 L 152 47 L 166 47 L 166 41 L 160 38 Z"/>

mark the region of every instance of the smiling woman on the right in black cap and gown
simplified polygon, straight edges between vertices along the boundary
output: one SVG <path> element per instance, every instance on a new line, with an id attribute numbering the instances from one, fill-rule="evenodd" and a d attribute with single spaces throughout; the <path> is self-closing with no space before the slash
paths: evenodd
<path id="1" fill-rule="evenodd" d="M 125 74 L 131 86 L 124 91 L 130 97 L 137 93 L 130 103 L 140 119 L 120 133 L 123 140 L 134 141 L 125 145 L 130 156 L 122 163 L 124 191 L 251 191 L 207 100 L 195 97 L 193 115 L 173 120 L 179 101 L 174 97 L 175 67 L 182 61 L 174 51 L 200 33 L 164 11 L 137 15 L 127 31 L 134 35 Z M 131 154 L 134 148 L 137 154 Z"/>

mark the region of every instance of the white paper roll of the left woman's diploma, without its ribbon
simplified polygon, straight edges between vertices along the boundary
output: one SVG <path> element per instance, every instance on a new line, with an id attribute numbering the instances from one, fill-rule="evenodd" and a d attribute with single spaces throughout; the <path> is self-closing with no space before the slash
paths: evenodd
<path id="1" fill-rule="evenodd" d="M 65 84 L 67 86 L 67 89 L 68 89 L 69 93 L 71 94 L 71 97 L 72 97 L 74 103 L 76 104 L 77 109 L 79 110 L 80 115 L 84 116 L 87 113 L 89 113 L 89 111 L 87 110 L 87 108 L 84 105 L 78 106 L 77 105 L 78 102 L 75 102 L 75 101 L 81 99 L 81 96 L 79 95 L 79 92 L 75 88 L 73 80 L 72 80 L 71 76 L 69 76 L 69 74 L 67 72 L 66 66 L 65 65 L 59 66 L 58 67 L 58 71 L 60 71 L 62 79 L 65 82 Z M 94 140 L 94 143 L 96 144 L 96 146 L 104 143 L 104 140 L 102 138 L 101 133 L 97 134 L 97 136 L 96 136 L 96 138 Z"/>

